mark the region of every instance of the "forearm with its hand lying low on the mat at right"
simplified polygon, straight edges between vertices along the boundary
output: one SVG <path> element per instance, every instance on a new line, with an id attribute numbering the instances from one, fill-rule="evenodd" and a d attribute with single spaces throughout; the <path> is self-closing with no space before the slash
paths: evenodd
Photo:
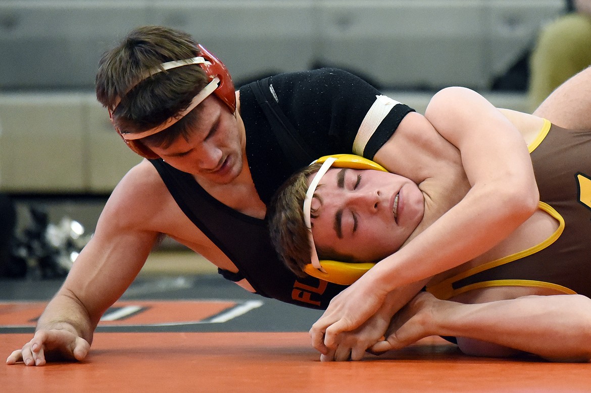
<path id="1" fill-rule="evenodd" d="M 533 353 L 550 361 L 591 359 L 591 299 L 581 295 L 524 296 L 462 304 L 420 293 L 395 316 L 388 342 L 397 349 L 431 336 L 455 336 L 463 352 L 476 356 Z"/>

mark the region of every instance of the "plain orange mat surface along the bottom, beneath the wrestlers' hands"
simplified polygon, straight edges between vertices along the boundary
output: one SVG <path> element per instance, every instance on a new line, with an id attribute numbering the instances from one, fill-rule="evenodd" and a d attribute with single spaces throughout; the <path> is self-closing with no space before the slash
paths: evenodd
<path id="1" fill-rule="evenodd" d="M 0 353 L 30 339 L 1 334 Z M 0 365 L 0 391 L 589 392 L 591 364 L 480 359 L 439 338 L 361 362 L 320 363 L 307 333 L 97 333 L 82 363 Z"/>

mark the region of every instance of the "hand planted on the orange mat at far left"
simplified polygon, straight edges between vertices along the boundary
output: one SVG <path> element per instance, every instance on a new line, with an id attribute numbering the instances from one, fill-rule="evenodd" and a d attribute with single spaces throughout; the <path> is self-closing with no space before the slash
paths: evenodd
<path id="1" fill-rule="evenodd" d="M 8 356 L 8 365 L 24 362 L 27 366 L 43 366 L 48 360 L 82 361 L 90 344 L 67 330 L 38 330 L 33 339 Z"/>

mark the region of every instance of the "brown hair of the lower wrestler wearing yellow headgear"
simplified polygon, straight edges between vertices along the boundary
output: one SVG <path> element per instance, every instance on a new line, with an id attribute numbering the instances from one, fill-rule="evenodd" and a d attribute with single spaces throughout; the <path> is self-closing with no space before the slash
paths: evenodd
<path id="1" fill-rule="evenodd" d="M 304 199 L 308 191 L 308 179 L 320 166 L 322 164 L 314 163 L 291 175 L 275 192 L 268 207 L 271 242 L 285 266 L 299 277 L 306 276 L 304 267 L 310 264 L 311 251 L 309 230 L 304 222 Z M 311 218 L 315 217 L 314 210 L 310 215 Z M 332 248 L 316 247 L 316 251 L 320 259 L 356 261 L 353 256 L 339 254 Z"/>

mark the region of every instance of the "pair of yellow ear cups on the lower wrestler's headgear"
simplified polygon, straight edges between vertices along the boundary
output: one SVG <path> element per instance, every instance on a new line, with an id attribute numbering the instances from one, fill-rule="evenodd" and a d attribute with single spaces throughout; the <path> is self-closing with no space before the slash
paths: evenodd
<path id="1" fill-rule="evenodd" d="M 353 154 L 323 156 L 314 162 L 323 163 L 329 157 L 336 158 L 336 161 L 332 163 L 332 166 L 336 168 L 374 169 L 376 171 L 388 172 L 386 168 L 379 165 L 377 162 Z M 320 266 L 322 266 L 324 271 L 320 271 L 313 267 L 311 263 L 304 267 L 304 271 L 317 279 L 340 285 L 350 285 L 357 281 L 359 277 L 363 276 L 363 274 L 365 274 L 370 268 L 374 267 L 375 263 L 350 263 L 321 260 Z"/>

